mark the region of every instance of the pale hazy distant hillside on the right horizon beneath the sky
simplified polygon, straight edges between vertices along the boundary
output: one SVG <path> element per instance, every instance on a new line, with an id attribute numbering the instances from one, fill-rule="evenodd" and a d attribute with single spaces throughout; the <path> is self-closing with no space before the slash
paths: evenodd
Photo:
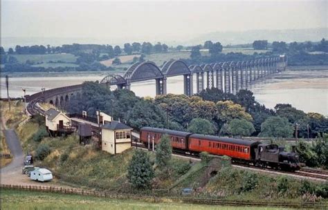
<path id="1" fill-rule="evenodd" d="M 247 30 L 211 32 L 186 41 L 185 44 L 203 44 L 206 40 L 220 41 L 221 44 L 247 44 L 254 40 L 266 39 L 272 41 L 320 41 L 328 37 L 328 28 L 308 28 L 295 30 Z"/>

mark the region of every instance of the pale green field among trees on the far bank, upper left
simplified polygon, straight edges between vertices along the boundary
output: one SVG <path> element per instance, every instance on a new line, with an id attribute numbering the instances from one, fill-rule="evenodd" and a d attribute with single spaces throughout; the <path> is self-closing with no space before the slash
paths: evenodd
<path id="1" fill-rule="evenodd" d="M 48 63 L 48 61 L 63 61 L 64 63 L 75 63 L 75 55 L 69 53 L 44 54 L 44 55 L 12 55 L 16 57 L 19 63 L 26 63 L 27 60 L 35 63 Z"/>

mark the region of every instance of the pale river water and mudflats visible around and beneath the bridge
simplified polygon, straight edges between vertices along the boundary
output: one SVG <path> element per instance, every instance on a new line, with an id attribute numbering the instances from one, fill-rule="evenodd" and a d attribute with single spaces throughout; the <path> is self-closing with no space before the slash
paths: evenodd
<path id="1" fill-rule="evenodd" d="M 10 97 L 23 96 L 22 88 L 30 95 L 41 88 L 57 88 L 84 81 L 101 80 L 107 73 L 53 73 L 46 75 L 11 76 L 9 79 Z M 114 88 L 114 87 L 113 87 Z M 328 69 L 326 70 L 286 70 L 264 79 L 249 87 L 255 99 L 268 108 L 278 103 L 288 103 L 304 112 L 317 112 L 328 115 Z M 154 97 L 155 81 L 131 84 L 131 90 L 140 97 Z M 196 84 L 194 84 L 194 93 Z M 183 93 L 183 77 L 167 78 L 167 93 Z M 1 77 L 1 97 L 7 97 L 5 78 Z"/>

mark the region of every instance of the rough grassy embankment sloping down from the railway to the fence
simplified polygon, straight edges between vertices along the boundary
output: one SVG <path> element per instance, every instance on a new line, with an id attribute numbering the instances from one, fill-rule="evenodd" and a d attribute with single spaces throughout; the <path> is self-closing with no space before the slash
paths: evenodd
<path id="1" fill-rule="evenodd" d="M 41 142 L 33 140 L 33 133 L 43 124 L 34 119 L 18 129 L 25 151 L 37 155 L 40 145 L 47 145 L 50 153 L 36 166 L 46 166 L 60 177 L 60 182 L 73 187 L 86 187 L 118 193 L 152 193 L 135 191 L 131 188 L 126 174 L 127 165 L 134 149 L 118 155 L 99 151 L 94 146 L 81 146 L 78 136 L 44 137 Z M 32 132 L 31 132 L 32 131 Z M 154 162 L 154 153 L 149 153 Z M 154 189 L 172 189 L 178 196 L 181 188 L 195 189 L 193 195 L 203 198 L 226 198 L 230 200 L 277 200 L 316 201 L 326 196 L 328 182 L 304 182 L 283 176 L 266 175 L 253 171 L 224 166 L 217 169 L 217 175 L 208 178 L 208 164 L 172 158 L 170 173 L 158 173 L 152 184 Z M 207 176 L 207 177 L 206 177 Z"/>

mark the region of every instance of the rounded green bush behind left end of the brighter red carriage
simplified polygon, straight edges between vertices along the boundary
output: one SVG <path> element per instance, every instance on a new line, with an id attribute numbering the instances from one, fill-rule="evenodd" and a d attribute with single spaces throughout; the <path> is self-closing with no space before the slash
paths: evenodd
<path id="1" fill-rule="evenodd" d="M 188 132 L 199 133 L 204 135 L 212 135 L 215 133 L 213 124 L 205 119 L 194 118 L 188 125 Z"/>

